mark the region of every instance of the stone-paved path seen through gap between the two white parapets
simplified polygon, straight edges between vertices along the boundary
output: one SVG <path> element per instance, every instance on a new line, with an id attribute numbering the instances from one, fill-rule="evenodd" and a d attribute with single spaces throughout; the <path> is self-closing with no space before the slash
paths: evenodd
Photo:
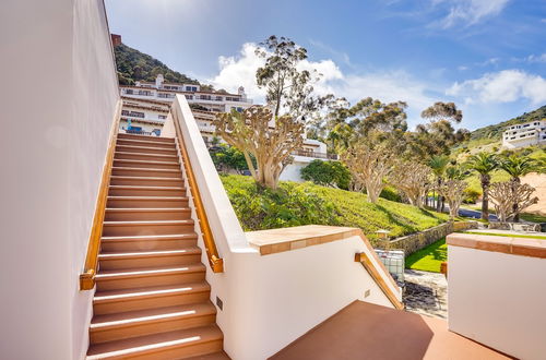
<path id="1" fill-rule="evenodd" d="M 448 281 L 443 274 L 406 269 L 404 278 L 407 311 L 448 319 Z"/>

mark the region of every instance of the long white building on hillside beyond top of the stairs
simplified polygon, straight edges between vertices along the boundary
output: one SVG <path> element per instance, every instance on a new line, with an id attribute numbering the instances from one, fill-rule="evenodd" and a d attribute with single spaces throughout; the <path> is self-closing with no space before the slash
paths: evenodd
<path id="1" fill-rule="evenodd" d="M 120 85 L 119 87 L 121 96 L 168 104 L 173 103 L 176 94 L 182 94 L 190 105 L 197 104 L 215 112 L 227 112 L 232 109 L 241 111 L 252 106 L 252 100 L 247 98 L 242 86 L 239 87 L 237 94 L 205 92 L 197 84 L 167 83 L 162 74 L 157 75 L 155 83 L 141 81 L 134 86 Z"/>

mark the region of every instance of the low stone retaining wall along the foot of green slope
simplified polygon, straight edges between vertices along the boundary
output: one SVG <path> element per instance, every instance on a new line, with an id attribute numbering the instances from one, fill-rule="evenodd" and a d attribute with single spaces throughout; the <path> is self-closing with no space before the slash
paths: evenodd
<path id="1" fill-rule="evenodd" d="M 441 238 L 455 231 L 464 231 L 468 229 L 476 229 L 477 221 L 448 221 L 435 226 L 434 228 L 426 229 L 424 231 L 412 233 L 405 237 L 396 238 L 389 241 L 389 248 L 391 249 L 403 249 L 405 255 L 413 254 L 414 252 L 428 247 L 432 242 L 440 240 Z"/>

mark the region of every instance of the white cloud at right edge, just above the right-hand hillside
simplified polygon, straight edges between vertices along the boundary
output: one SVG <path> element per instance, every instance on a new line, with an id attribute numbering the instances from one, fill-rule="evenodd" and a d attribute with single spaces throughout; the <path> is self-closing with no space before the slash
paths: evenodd
<path id="1" fill-rule="evenodd" d="M 464 97 L 466 104 L 527 99 L 536 105 L 546 101 L 546 80 L 522 70 L 502 70 L 479 79 L 456 82 L 446 94 Z"/>

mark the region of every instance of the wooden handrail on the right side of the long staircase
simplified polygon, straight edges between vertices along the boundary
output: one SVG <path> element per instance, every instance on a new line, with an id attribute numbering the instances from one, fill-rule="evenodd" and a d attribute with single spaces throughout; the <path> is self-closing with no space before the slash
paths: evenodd
<path id="1" fill-rule="evenodd" d="M 203 242 L 205 245 L 206 256 L 209 259 L 209 264 L 214 273 L 224 272 L 224 260 L 219 257 L 218 250 L 216 249 L 216 243 L 214 242 L 214 237 L 211 231 L 211 226 L 209 224 L 209 218 L 204 211 L 203 201 L 201 200 L 201 193 L 199 192 L 199 187 L 195 180 L 195 175 L 191 167 L 190 157 L 188 156 L 188 151 L 186 149 L 186 144 L 182 137 L 182 131 L 180 124 L 176 119 L 173 119 L 175 124 L 175 132 L 178 139 L 178 145 L 180 146 L 180 154 L 182 156 L 182 164 L 186 170 L 186 177 L 188 178 L 188 184 L 190 187 L 191 196 L 193 197 L 193 205 L 195 206 L 195 214 L 198 216 L 199 226 L 203 236 Z"/>

